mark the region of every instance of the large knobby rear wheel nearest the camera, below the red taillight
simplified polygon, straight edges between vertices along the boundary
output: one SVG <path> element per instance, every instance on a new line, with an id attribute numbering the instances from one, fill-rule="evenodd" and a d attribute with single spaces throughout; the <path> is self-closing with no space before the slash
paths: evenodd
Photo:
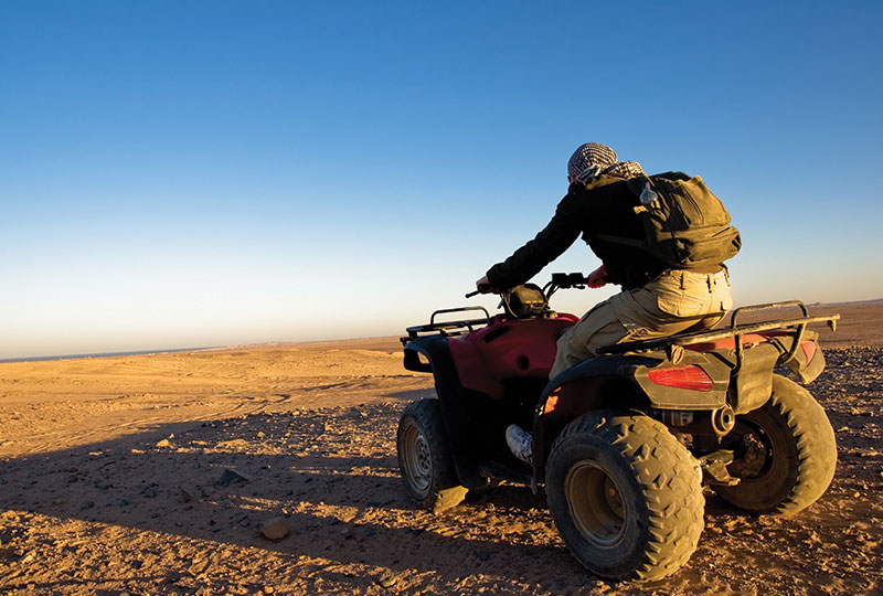
<path id="1" fill-rule="evenodd" d="M 546 469 L 555 525 L 591 572 L 652 582 L 695 550 L 704 512 L 699 464 L 662 424 L 586 414 L 555 439 Z"/>

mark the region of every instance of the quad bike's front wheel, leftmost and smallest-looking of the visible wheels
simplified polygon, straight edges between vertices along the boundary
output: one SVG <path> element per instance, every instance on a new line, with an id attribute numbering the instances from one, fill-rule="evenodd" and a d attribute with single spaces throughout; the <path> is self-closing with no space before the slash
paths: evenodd
<path id="1" fill-rule="evenodd" d="M 408 494 L 439 513 L 458 505 L 467 489 L 457 480 L 438 400 L 412 402 L 398 421 L 398 468 Z"/>

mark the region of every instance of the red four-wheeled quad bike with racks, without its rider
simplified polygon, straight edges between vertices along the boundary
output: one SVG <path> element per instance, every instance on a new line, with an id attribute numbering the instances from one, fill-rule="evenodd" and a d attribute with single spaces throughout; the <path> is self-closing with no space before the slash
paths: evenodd
<path id="1" fill-rule="evenodd" d="M 578 319 L 540 289 L 501 294 L 503 312 L 435 311 L 407 329 L 404 365 L 430 372 L 437 398 L 411 403 L 398 423 L 405 487 L 436 512 L 500 481 L 544 485 L 555 525 L 592 573 L 650 582 L 675 572 L 703 528 L 703 485 L 737 508 L 791 514 L 828 488 L 834 434 L 800 383 L 825 368 L 799 301 L 736 309 L 728 327 L 618 343 L 549 379 L 561 332 Z M 467 295 L 469 296 L 469 295 Z M 799 317 L 742 323 L 752 311 Z M 450 319 L 455 316 L 471 317 Z M 768 315 L 767 315 L 768 316 Z M 755 315 L 756 317 L 756 315 Z M 533 464 L 510 453 L 506 428 L 533 434 Z"/>

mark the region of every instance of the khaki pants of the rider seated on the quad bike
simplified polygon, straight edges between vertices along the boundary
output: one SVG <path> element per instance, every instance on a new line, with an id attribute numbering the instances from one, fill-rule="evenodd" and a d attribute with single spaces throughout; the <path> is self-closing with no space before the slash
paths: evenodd
<path id="1" fill-rule="evenodd" d="M 595 306 L 557 342 L 550 379 L 596 350 L 624 341 L 711 329 L 733 308 L 730 275 L 669 270 L 640 288 L 620 291 Z"/>

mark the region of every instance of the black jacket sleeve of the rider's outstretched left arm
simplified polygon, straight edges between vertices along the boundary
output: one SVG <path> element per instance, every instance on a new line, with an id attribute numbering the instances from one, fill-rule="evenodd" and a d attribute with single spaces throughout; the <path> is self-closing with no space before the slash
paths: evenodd
<path id="1" fill-rule="evenodd" d="M 525 283 L 561 256 L 582 232 L 584 205 L 582 194 L 568 192 L 555 209 L 552 221 L 536 237 L 488 269 L 488 281 L 498 288 L 511 288 Z"/>

